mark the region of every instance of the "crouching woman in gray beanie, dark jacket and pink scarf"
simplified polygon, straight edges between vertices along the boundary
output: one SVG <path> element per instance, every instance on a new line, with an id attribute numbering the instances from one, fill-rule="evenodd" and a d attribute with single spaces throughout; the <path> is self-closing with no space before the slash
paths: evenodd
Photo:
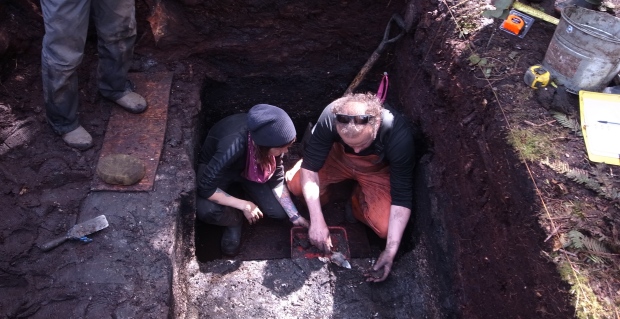
<path id="1" fill-rule="evenodd" d="M 295 126 L 279 107 L 258 104 L 248 113 L 217 122 L 202 146 L 198 166 L 196 217 L 225 226 L 222 253 L 236 255 L 243 217 L 254 224 L 263 216 L 308 227 L 284 185 L 282 155 L 295 141 Z M 227 193 L 240 185 L 246 199 Z"/>

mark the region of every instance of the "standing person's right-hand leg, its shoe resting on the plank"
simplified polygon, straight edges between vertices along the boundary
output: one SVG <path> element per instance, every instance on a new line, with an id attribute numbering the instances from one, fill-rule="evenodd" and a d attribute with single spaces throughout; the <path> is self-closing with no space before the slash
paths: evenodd
<path id="1" fill-rule="evenodd" d="M 132 92 L 127 80 L 136 41 L 134 0 L 93 1 L 92 9 L 98 35 L 99 91 L 127 111 L 141 113 L 146 110 L 146 101 Z"/>

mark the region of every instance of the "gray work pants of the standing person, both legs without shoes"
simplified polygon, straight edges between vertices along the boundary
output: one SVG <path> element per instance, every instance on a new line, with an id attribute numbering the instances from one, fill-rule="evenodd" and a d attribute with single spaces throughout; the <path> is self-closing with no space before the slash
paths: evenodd
<path id="1" fill-rule="evenodd" d="M 97 85 L 103 97 L 127 94 L 127 71 L 136 40 L 134 0 L 41 0 L 45 36 L 41 52 L 47 121 L 58 134 L 76 129 L 77 68 L 82 62 L 88 23 L 97 30 Z"/>

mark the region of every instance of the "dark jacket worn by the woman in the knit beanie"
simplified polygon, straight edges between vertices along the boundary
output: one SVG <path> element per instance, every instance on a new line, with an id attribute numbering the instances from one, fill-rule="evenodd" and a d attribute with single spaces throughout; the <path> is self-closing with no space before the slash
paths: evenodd
<path id="1" fill-rule="evenodd" d="M 198 195 L 209 198 L 229 176 L 241 176 L 245 169 L 248 149 L 247 113 L 228 116 L 209 130 L 202 149 L 200 165 L 206 165 L 197 176 Z M 200 172 L 201 170 L 199 170 Z M 276 157 L 276 171 L 267 181 L 271 189 L 284 181 L 282 156 Z"/>

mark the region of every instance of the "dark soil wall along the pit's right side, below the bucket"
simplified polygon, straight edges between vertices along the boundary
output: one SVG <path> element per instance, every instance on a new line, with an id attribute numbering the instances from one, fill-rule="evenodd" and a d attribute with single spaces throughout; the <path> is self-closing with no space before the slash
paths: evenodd
<path id="1" fill-rule="evenodd" d="M 440 283 L 456 296 L 459 317 L 570 318 L 568 287 L 540 254 L 545 237 L 527 171 L 443 4 L 421 9 L 415 35 L 395 51 L 399 100 L 430 148 L 433 202 L 430 214 L 417 214 L 436 244 L 435 265 L 447 270 Z M 492 29 L 476 39 L 486 43 Z"/>

